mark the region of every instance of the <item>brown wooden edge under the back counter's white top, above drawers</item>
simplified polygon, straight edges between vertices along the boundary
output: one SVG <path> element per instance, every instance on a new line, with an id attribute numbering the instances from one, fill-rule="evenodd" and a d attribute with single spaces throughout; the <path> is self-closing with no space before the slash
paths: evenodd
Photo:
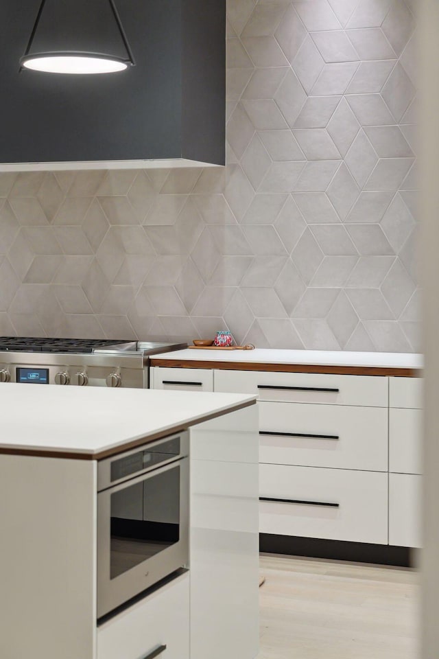
<path id="1" fill-rule="evenodd" d="M 226 371 L 270 371 L 275 373 L 329 373 L 333 375 L 390 375 L 420 378 L 419 369 L 375 366 L 323 366 L 308 364 L 267 364 L 265 362 L 228 362 L 209 360 L 151 359 L 151 366 L 169 369 L 221 369 Z"/>

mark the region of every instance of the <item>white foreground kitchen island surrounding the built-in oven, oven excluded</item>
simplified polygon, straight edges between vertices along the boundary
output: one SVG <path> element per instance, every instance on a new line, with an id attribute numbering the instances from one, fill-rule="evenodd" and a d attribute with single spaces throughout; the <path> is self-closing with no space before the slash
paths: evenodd
<path id="1" fill-rule="evenodd" d="M 257 655 L 254 402 L 227 393 L 0 387 L 1 657 Z M 186 430 L 189 560 L 98 619 L 98 465 Z"/>

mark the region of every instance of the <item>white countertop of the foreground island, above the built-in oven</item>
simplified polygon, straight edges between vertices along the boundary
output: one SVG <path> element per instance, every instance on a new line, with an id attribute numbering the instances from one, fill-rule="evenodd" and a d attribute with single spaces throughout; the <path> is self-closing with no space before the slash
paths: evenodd
<path id="1" fill-rule="evenodd" d="M 255 400 L 229 393 L 0 384 L 0 448 L 98 454 Z"/>

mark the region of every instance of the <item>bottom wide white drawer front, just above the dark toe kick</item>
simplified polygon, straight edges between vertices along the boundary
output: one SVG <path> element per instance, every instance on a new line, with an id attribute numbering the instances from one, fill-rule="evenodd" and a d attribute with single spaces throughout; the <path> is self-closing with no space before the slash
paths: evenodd
<path id="1" fill-rule="evenodd" d="M 388 475 L 260 465 L 259 531 L 387 544 Z M 337 507 L 318 504 L 333 504 Z"/>

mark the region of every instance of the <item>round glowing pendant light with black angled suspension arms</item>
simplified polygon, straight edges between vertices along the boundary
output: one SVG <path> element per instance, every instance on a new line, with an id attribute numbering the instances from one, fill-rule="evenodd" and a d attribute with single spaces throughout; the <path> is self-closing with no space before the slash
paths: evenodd
<path id="1" fill-rule="evenodd" d="M 93 74 L 115 73 L 135 66 L 130 44 L 123 30 L 114 0 L 108 0 L 108 3 L 112 18 L 117 25 L 121 43 L 123 43 L 123 47 L 126 50 L 126 58 L 108 53 L 88 52 L 79 49 L 78 51 L 71 49 L 60 51 L 57 49 L 54 51 L 45 50 L 32 53 L 32 45 L 38 31 L 41 16 L 43 15 L 45 3 L 46 0 L 41 0 L 29 43 L 27 43 L 25 54 L 20 60 L 20 71 L 23 69 L 32 69 L 33 71 L 45 71 L 46 73 Z"/>

